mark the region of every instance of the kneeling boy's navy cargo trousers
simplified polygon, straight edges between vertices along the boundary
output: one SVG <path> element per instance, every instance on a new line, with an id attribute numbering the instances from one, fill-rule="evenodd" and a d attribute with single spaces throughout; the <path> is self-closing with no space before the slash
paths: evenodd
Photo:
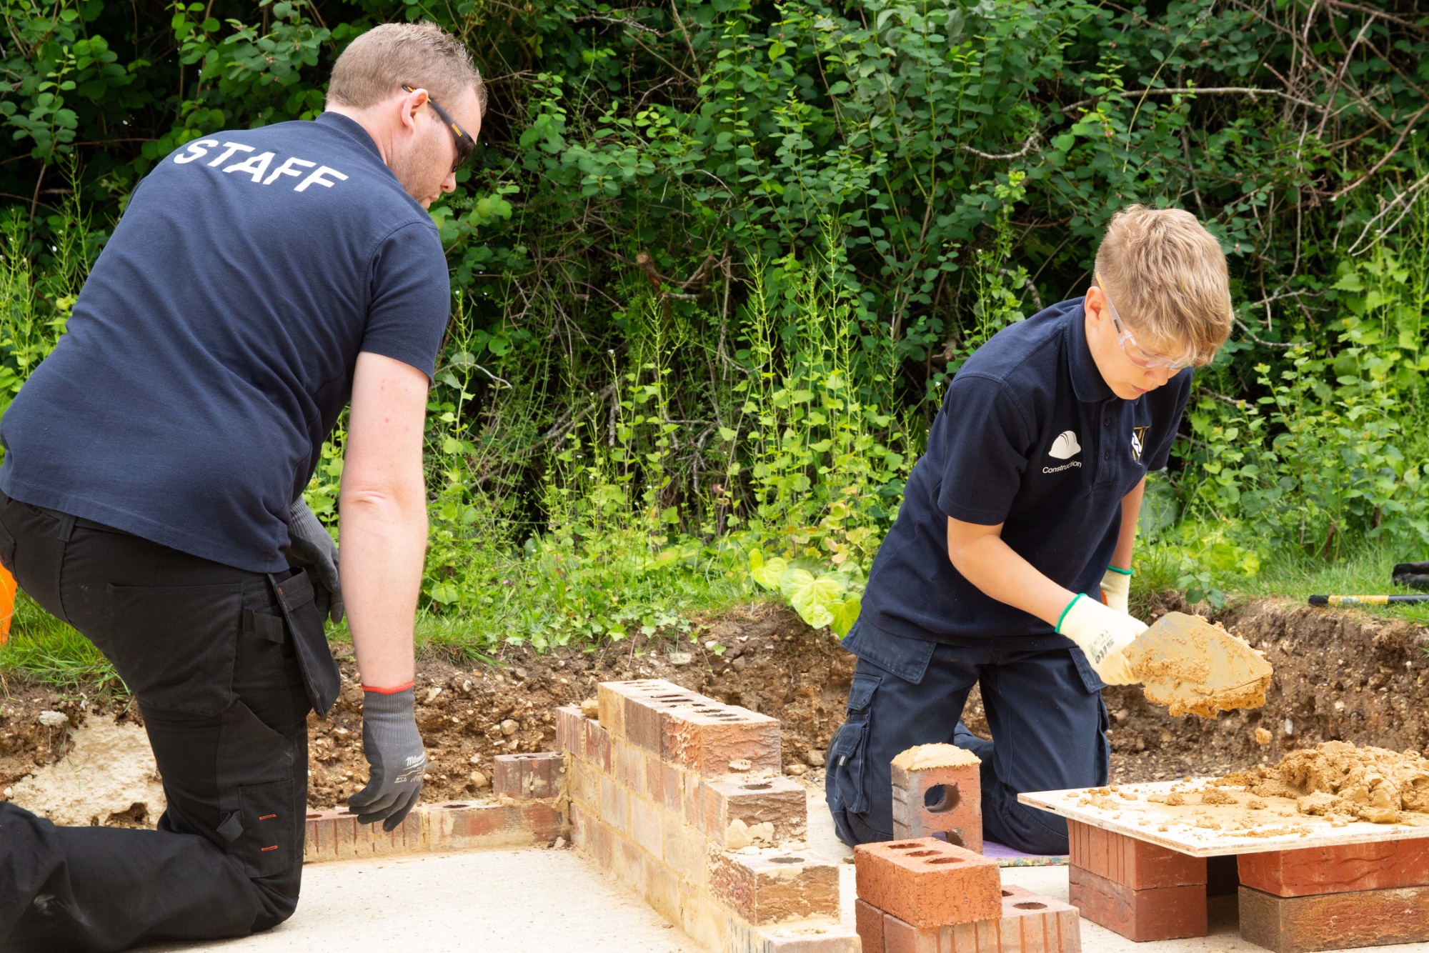
<path id="1" fill-rule="evenodd" d="M 1105 784 L 1110 743 L 1102 680 L 1076 649 L 996 652 L 893 636 L 857 623 L 847 716 L 829 744 L 825 793 L 847 844 L 893 839 L 892 762 L 915 744 L 982 759 L 983 837 L 1039 854 L 1067 852 L 1066 822 L 1017 803 L 1023 792 Z M 982 686 L 992 742 L 962 719 Z"/>

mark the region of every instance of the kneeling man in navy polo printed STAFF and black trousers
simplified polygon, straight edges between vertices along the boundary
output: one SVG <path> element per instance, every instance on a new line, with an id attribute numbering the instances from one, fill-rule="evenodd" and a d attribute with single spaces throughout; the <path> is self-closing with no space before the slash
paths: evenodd
<path id="1" fill-rule="evenodd" d="M 0 950 L 293 913 L 306 719 L 337 694 L 323 619 L 343 603 L 372 767 L 349 804 L 387 830 L 416 804 L 423 416 L 450 309 L 426 209 L 483 106 L 460 41 L 387 24 L 337 59 L 316 121 L 187 143 L 139 184 L 6 411 L 0 562 L 113 662 L 167 807 L 159 830 L 114 830 L 0 803 Z M 349 403 L 339 570 L 303 489 Z"/>

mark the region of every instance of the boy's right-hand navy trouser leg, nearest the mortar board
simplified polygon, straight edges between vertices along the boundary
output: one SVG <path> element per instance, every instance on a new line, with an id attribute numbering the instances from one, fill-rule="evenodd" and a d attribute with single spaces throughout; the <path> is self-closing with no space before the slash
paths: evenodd
<path id="1" fill-rule="evenodd" d="M 992 764 L 982 770 L 983 834 L 1016 850 L 1067 853 L 1066 820 L 1019 803 L 1019 793 L 1106 783 L 1102 683 L 1073 652 L 1015 654 L 983 670 L 993 734 Z"/>

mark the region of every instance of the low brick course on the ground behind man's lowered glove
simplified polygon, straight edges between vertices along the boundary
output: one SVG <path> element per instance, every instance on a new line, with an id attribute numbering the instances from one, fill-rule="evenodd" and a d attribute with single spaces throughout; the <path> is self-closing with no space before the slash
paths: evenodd
<path id="1" fill-rule="evenodd" d="M 390 832 L 359 824 L 347 810 L 313 812 L 303 832 L 303 863 L 550 843 L 564 827 L 564 816 L 544 802 L 420 804 Z"/>

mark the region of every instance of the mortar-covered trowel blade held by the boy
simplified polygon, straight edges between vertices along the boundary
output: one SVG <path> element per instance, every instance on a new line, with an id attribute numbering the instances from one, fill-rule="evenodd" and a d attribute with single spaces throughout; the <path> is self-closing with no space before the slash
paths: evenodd
<path id="1" fill-rule="evenodd" d="M 1270 663 L 1243 639 L 1200 616 L 1170 612 L 1125 649 L 1149 702 L 1172 716 L 1203 719 L 1230 709 L 1259 709 L 1270 687 Z"/>

